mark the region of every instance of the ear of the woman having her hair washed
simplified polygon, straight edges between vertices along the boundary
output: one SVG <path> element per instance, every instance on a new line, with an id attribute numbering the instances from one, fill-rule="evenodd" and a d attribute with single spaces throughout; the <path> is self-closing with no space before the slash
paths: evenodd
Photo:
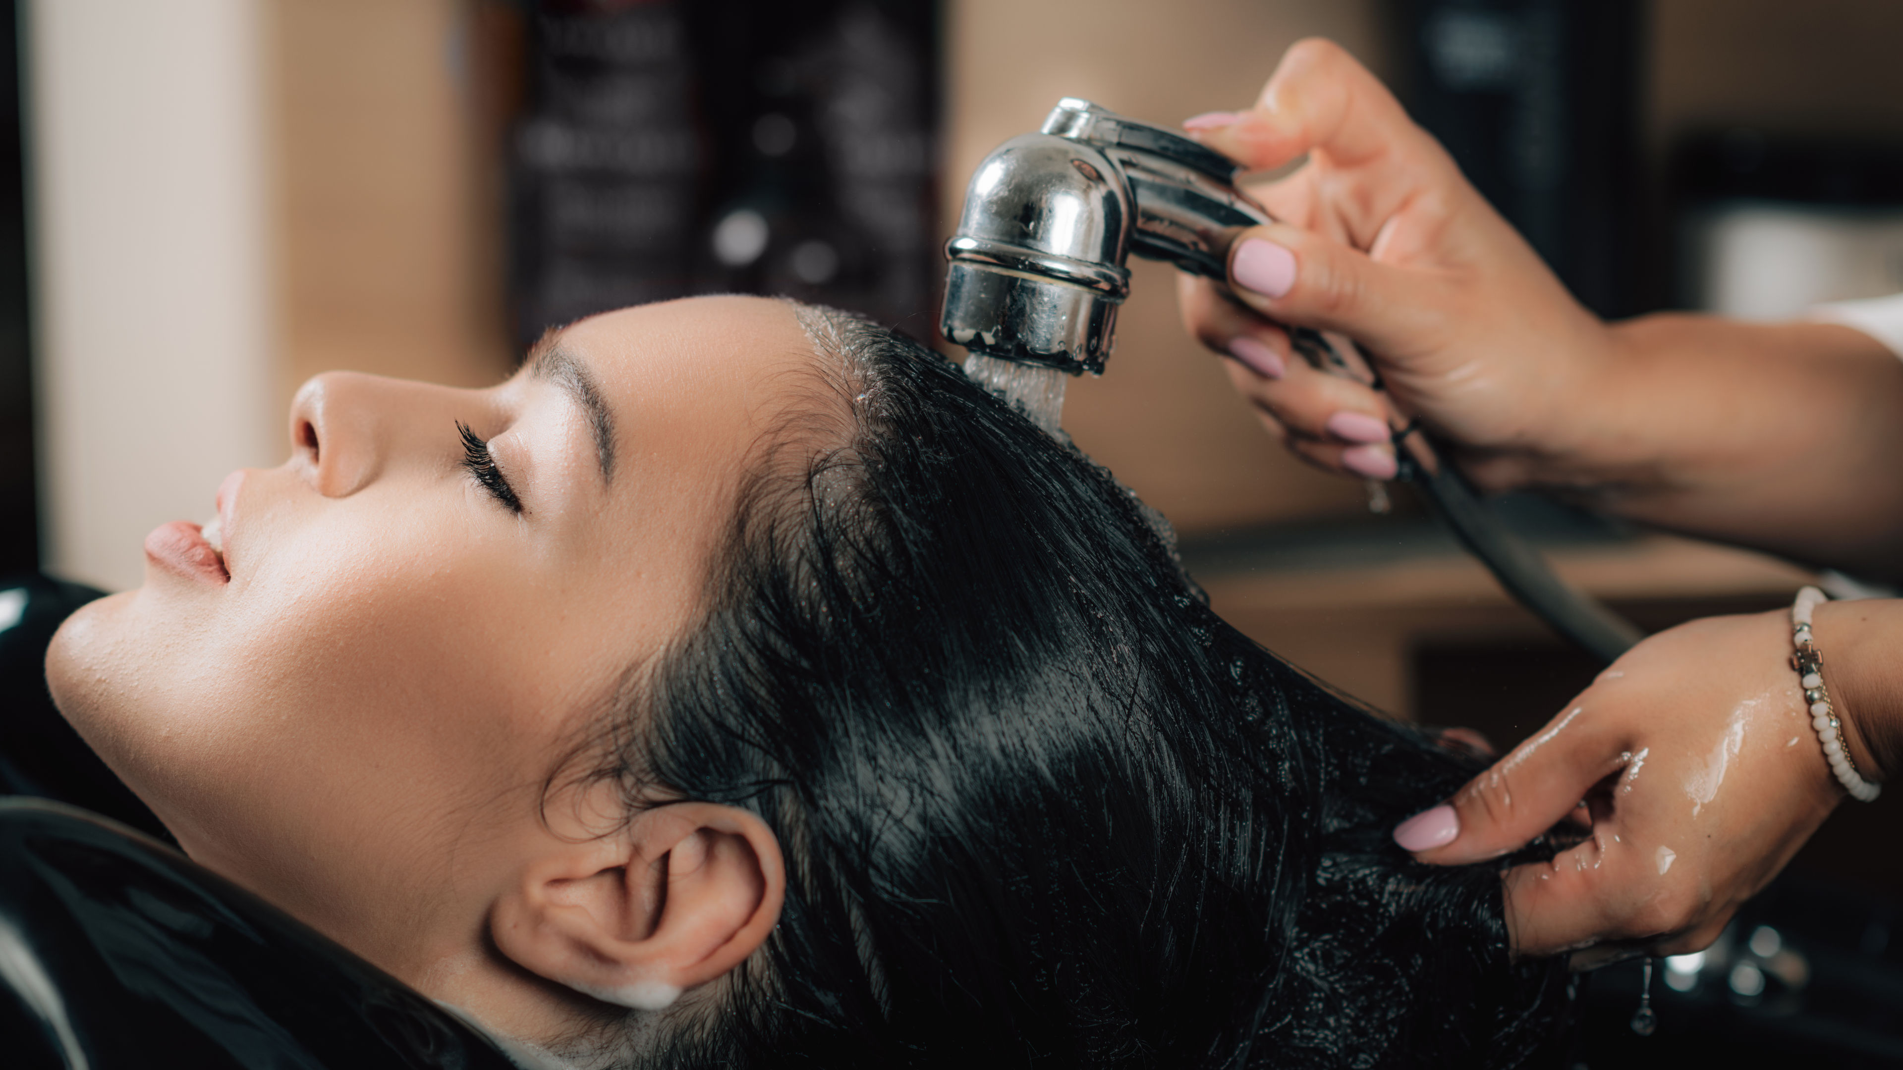
<path id="1" fill-rule="evenodd" d="M 658 1011 L 746 960 L 784 899 L 780 843 L 759 817 L 670 803 L 613 836 L 550 836 L 491 906 L 489 933 L 531 973 Z"/>

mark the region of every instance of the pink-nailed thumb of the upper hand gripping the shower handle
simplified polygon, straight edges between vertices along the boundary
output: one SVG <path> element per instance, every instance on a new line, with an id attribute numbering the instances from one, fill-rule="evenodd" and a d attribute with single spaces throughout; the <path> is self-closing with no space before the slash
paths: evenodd
<path id="1" fill-rule="evenodd" d="M 1250 227 L 1229 246 L 1229 289 L 1279 324 L 1342 331 L 1395 356 L 1431 348 L 1454 308 L 1437 272 L 1370 259 L 1288 223 Z"/>

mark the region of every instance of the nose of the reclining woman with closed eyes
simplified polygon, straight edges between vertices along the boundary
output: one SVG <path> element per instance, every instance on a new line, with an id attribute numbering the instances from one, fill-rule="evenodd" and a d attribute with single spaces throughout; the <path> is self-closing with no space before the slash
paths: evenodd
<path id="1" fill-rule="evenodd" d="M 411 428 L 443 409 L 445 386 L 325 371 L 297 388 L 291 400 L 291 465 L 325 497 L 352 495 L 375 482 L 403 455 Z"/>

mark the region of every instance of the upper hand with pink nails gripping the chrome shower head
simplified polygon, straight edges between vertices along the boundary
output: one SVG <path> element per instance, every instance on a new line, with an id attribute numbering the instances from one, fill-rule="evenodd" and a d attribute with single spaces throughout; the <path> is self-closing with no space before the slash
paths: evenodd
<path id="1" fill-rule="evenodd" d="M 1543 457 L 1589 434 L 1604 324 L 1340 46 L 1296 44 L 1252 110 L 1186 128 L 1250 169 L 1307 154 L 1256 190 L 1281 223 L 1245 230 L 1229 251 L 1241 305 L 1182 276 L 1189 331 L 1233 358 L 1237 388 L 1296 453 L 1395 472 L 1376 394 L 1290 356 L 1275 324 L 1357 339 L 1401 409 L 1484 487 L 1538 478 Z"/>

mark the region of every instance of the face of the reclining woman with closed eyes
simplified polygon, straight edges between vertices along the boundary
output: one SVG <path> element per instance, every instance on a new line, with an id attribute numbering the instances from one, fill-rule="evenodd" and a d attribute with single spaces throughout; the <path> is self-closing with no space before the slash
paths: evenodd
<path id="1" fill-rule="evenodd" d="M 291 459 L 217 489 L 223 562 L 154 531 L 145 586 L 61 628 L 53 695 L 192 857 L 400 969 L 691 623 L 813 362 L 788 307 L 716 297 L 575 324 L 487 390 L 312 379 Z"/>

